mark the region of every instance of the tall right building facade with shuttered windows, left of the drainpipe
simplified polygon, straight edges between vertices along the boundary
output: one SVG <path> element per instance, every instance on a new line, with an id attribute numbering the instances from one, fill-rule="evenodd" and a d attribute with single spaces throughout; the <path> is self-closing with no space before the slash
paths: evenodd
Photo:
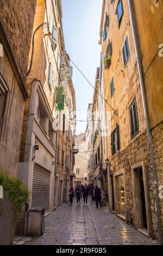
<path id="1" fill-rule="evenodd" d="M 109 207 L 148 236 L 153 228 L 156 237 L 150 221 L 151 164 L 128 1 L 103 1 L 100 38 L 109 120 Z"/>

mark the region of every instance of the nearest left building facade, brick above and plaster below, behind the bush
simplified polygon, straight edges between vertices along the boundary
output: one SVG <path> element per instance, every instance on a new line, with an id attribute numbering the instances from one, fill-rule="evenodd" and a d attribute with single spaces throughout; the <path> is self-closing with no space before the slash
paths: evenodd
<path id="1" fill-rule="evenodd" d="M 2 0 L 0 3 L 0 167 L 15 177 L 18 173 L 24 102 L 28 99 L 26 72 L 35 6 L 36 1 L 30 0 Z M 0 244 L 3 245 L 13 241 L 14 225 L 8 220 L 12 220 L 11 208 L 4 209 L 4 217 L 1 216 L 0 220 L 3 227 Z"/>

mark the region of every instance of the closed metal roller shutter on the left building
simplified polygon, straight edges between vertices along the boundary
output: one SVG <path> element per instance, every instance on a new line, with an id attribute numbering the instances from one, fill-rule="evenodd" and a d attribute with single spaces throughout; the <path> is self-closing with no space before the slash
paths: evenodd
<path id="1" fill-rule="evenodd" d="M 34 165 L 32 207 L 49 210 L 50 172 L 45 168 Z"/>

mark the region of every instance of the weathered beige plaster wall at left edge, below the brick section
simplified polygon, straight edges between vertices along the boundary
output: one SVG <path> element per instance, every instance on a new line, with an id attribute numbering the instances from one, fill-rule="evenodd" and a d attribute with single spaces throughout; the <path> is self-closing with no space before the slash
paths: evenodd
<path id="1" fill-rule="evenodd" d="M 24 98 L 5 53 L 0 58 L 0 70 L 9 87 L 0 138 L 0 165 L 16 176 L 20 153 Z"/>

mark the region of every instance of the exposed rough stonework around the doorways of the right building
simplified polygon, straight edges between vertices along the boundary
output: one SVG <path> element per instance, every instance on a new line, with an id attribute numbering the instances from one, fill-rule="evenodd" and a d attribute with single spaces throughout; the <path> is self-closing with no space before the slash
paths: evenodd
<path id="1" fill-rule="evenodd" d="M 144 167 L 146 166 L 148 167 L 148 179 L 149 179 L 149 191 L 150 191 L 150 199 L 151 199 L 153 229 L 154 229 L 154 236 L 155 238 L 158 239 L 157 228 L 156 228 L 156 216 L 155 216 L 155 209 L 154 209 L 155 204 L 154 204 L 152 172 L 151 172 L 151 165 L 150 165 L 150 159 L 149 159 L 149 149 L 148 149 L 146 132 L 140 135 L 139 137 L 137 137 L 135 141 L 133 141 L 126 149 L 121 151 L 121 153 L 116 153 L 110 159 L 111 169 L 114 170 L 114 174 L 119 169 L 124 168 L 124 183 L 126 187 L 126 210 L 131 213 L 134 225 L 135 225 L 136 209 L 134 206 L 134 186 L 133 186 L 133 173 L 131 170 L 131 166 L 141 161 L 143 161 Z M 108 177 L 108 180 L 110 180 L 109 177 Z M 111 191 L 110 187 L 109 187 L 109 191 Z M 109 203 L 111 205 L 110 199 L 109 199 Z"/>

